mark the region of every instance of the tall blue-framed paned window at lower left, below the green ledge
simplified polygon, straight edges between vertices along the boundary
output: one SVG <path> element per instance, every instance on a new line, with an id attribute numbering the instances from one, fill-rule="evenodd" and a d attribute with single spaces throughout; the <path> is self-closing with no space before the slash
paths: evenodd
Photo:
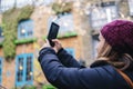
<path id="1" fill-rule="evenodd" d="M 33 55 L 23 53 L 17 56 L 16 86 L 32 85 L 33 81 Z"/>

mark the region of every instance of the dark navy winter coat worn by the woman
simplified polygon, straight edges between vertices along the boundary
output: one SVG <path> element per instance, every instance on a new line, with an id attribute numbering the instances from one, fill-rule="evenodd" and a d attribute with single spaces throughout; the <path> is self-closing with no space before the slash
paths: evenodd
<path id="1" fill-rule="evenodd" d="M 58 55 L 51 48 L 43 48 L 39 62 L 47 77 L 59 89 L 130 89 L 114 67 L 103 63 L 85 68 L 61 49 Z M 133 72 L 126 72 L 133 80 Z"/>

